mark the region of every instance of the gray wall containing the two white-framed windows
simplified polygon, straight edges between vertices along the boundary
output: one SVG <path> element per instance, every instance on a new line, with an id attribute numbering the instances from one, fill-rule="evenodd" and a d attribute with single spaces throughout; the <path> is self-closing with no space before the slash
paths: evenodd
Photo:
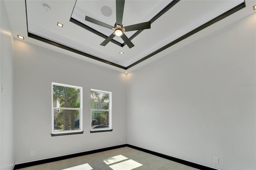
<path id="1" fill-rule="evenodd" d="M 51 136 L 52 82 L 83 87 L 84 134 Z M 112 132 L 90 133 L 91 88 L 112 92 Z M 15 163 L 127 142 L 124 73 L 14 40 L 14 91 Z"/>

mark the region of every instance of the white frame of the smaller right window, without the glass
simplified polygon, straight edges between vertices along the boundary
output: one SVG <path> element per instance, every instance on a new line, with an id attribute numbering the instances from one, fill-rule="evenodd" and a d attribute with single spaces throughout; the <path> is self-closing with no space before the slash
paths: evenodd
<path id="1" fill-rule="evenodd" d="M 91 89 L 91 91 L 96 91 L 96 92 L 100 92 L 100 93 L 109 93 L 109 96 L 108 96 L 108 109 L 91 109 L 91 121 L 90 121 L 90 131 L 91 132 L 103 132 L 103 131 L 112 131 L 112 92 L 110 91 L 103 91 L 103 90 L 97 90 L 97 89 Z M 92 111 L 108 111 L 108 128 L 95 128 L 95 129 L 92 129 Z"/>

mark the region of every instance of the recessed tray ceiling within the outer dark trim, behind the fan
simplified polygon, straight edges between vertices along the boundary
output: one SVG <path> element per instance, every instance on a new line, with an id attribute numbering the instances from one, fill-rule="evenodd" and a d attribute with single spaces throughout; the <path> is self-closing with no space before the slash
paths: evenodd
<path id="1" fill-rule="evenodd" d="M 89 16 L 114 26 L 115 0 L 22 2 L 26 5 L 22 9 L 26 13 L 28 37 L 121 69 L 129 69 L 245 7 L 244 0 L 126 0 L 123 26 L 151 21 L 150 29 L 125 32 L 135 45 L 129 48 L 117 36 L 101 46 L 113 30 L 85 21 L 85 16 Z M 15 12 L 8 10 L 12 5 L 6 2 L 9 13 Z"/>

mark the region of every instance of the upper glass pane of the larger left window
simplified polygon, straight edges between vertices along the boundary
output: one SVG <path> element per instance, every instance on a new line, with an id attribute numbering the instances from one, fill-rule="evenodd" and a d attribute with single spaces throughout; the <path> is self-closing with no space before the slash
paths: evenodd
<path id="1" fill-rule="evenodd" d="M 80 108 L 80 89 L 53 85 L 53 107 Z"/>

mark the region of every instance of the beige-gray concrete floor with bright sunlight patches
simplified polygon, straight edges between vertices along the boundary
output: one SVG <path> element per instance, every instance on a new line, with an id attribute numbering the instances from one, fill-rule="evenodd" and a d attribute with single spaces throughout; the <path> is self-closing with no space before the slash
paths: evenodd
<path id="1" fill-rule="evenodd" d="M 123 147 L 20 170 L 196 170 L 130 147 Z"/>

